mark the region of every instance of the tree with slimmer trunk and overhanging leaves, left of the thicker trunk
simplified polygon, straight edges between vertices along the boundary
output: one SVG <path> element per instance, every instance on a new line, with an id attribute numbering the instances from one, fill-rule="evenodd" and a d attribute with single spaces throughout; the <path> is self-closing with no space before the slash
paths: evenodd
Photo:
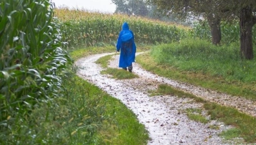
<path id="1" fill-rule="evenodd" d="M 220 10 L 221 0 L 148 0 L 148 3 L 157 5 L 164 14 L 183 20 L 188 17 L 204 17 L 211 28 L 212 43 L 221 42 L 221 19 L 226 13 Z"/>

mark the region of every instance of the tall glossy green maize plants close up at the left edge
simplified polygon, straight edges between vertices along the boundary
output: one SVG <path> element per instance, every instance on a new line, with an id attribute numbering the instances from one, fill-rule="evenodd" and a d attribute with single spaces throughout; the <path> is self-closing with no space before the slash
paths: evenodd
<path id="1" fill-rule="evenodd" d="M 70 57 L 48 0 L 0 1 L 0 127 L 61 95 L 61 72 Z"/>

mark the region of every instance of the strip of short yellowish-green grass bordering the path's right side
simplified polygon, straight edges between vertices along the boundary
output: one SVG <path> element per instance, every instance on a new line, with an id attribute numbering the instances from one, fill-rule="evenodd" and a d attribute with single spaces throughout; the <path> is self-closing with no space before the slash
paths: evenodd
<path id="1" fill-rule="evenodd" d="M 203 88 L 210 88 L 219 92 L 256 101 L 256 88 L 253 82 L 226 81 L 221 76 L 210 75 L 206 72 L 179 70 L 179 68 L 171 64 L 157 63 L 150 53 L 143 53 L 137 56 L 137 63 L 141 64 L 146 70 L 169 79 L 188 82 L 196 86 L 202 86 Z"/>

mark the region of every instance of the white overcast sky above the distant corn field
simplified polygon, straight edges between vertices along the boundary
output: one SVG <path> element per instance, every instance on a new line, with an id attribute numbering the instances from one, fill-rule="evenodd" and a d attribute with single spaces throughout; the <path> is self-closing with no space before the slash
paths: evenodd
<path id="1" fill-rule="evenodd" d="M 55 6 L 68 6 L 70 8 L 85 8 L 99 12 L 115 12 L 115 5 L 111 0 L 52 0 Z"/>

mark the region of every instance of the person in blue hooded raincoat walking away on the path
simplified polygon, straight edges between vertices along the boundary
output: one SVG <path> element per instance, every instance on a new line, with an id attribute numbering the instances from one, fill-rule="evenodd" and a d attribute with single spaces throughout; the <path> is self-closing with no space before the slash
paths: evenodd
<path id="1" fill-rule="evenodd" d="M 123 23 L 122 30 L 117 39 L 116 52 L 120 50 L 119 68 L 124 70 L 128 68 L 128 71 L 132 72 L 132 63 L 135 62 L 136 45 L 133 32 L 126 22 Z"/>

